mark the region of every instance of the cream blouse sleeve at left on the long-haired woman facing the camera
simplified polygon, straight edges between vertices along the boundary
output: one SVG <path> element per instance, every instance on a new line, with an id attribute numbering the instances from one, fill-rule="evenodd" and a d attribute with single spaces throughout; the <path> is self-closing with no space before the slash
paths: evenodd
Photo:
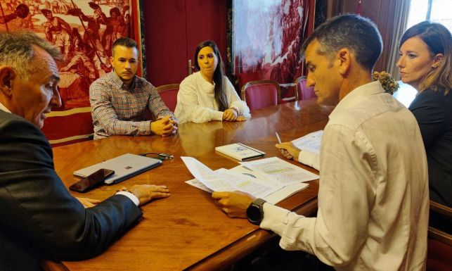
<path id="1" fill-rule="evenodd" d="M 223 112 L 201 106 L 198 102 L 198 93 L 195 85 L 183 80 L 177 93 L 177 118 L 181 122 L 208 122 L 211 120 L 223 120 Z"/>

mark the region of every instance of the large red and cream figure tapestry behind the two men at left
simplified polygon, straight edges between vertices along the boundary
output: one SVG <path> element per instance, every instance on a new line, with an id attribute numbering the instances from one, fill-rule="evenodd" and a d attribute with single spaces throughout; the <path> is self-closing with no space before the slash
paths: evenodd
<path id="1" fill-rule="evenodd" d="M 112 70 L 112 43 L 131 37 L 141 48 L 139 1 L 0 0 L 0 4 L 0 30 L 30 30 L 65 56 L 58 84 L 63 106 L 47 115 L 44 134 L 53 146 L 86 139 L 93 133 L 89 86 Z M 143 74 L 141 67 L 138 75 Z"/>

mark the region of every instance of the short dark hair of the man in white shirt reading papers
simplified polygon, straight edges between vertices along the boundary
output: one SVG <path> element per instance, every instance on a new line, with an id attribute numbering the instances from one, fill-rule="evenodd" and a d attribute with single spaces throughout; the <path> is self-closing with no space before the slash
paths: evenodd
<path id="1" fill-rule="evenodd" d="M 375 23 L 359 15 L 340 15 L 327 20 L 306 39 L 300 53 L 314 40 L 320 44 L 318 53 L 331 57 L 340 49 L 353 51 L 356 62 L 367 70 L 373 70 L 383 48 Z"/>

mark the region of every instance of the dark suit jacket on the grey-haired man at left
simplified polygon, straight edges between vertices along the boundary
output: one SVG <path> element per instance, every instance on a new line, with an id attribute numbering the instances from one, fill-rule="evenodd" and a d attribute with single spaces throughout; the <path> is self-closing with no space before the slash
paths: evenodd
<path id="1" fill-rule="evenodd" d="M 91 258 L 140 216 L 122 195 L 85 209 L 56 175 L 44 134 L 0 110 L 0 270 L 40 270 L 43 259 Z"/>

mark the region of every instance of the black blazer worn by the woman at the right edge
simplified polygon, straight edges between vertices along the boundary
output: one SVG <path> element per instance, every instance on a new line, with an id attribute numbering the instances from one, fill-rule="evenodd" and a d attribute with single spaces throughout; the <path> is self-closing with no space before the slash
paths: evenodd
<path id="1" fill-rule="evenodd" d="M 429 167 L 430 199 L 452 207 L 452 93 L 427 89 L 411 103 Z M 415 159 L 415 157 L 413 157 Z"/>

